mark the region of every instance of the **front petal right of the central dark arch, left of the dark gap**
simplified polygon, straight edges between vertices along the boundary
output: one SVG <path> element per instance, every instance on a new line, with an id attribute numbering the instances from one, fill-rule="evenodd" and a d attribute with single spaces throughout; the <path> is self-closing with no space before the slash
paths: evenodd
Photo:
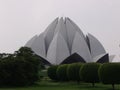
<path id="1" fill-rule="evenodd" d="M 91 54 L 84 38 L 76 32 L 72 45 L 72 54 L 79 54 L 86 62 L 91 62 Z"/>

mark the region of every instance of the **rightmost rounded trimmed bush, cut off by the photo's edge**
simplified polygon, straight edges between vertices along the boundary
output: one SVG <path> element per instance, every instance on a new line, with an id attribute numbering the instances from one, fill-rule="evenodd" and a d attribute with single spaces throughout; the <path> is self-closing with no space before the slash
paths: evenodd
<path id="1" fill-rule="evenodd" d="M 120 63 L 105 63 L 99 68 L 99 78 L 103 84 L 120 84 Z"/>

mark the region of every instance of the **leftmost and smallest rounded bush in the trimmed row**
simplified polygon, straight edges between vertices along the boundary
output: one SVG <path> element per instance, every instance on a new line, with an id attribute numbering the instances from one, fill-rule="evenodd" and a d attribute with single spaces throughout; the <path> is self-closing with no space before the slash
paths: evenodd
<path id="1" fill-rule="evenodd" d="M 50 66 L 47 70 L 48 77 L 55 81 L 57 80 L 57 74 L 56 74 L 57 68 L 58 66 L 55 65 L 55 66 Z"/>

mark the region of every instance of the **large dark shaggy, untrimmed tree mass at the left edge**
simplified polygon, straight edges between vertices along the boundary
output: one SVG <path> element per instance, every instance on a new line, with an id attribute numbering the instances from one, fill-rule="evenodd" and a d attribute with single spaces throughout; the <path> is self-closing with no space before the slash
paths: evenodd
<path id="1" fill-rule="evenodd" d="M 30 49 L 23 49 L 27 48 L 0 60 L 0 85 L 25 86 L 39 79 L 40 60 Z"/>

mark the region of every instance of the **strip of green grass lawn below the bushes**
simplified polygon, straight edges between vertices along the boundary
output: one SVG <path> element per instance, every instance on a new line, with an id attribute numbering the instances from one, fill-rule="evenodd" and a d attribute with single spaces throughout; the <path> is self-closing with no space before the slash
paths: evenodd
<path id="1" fill-rule="evenodd" d="M 86 83 L 41 81 L 29 87 L 1 87 L 0 90 L 112 90 L 112 86 L 96 84 L 92 87 Z M 120 90 L 120 86 L 116 85 L 115 90 Z"/>

